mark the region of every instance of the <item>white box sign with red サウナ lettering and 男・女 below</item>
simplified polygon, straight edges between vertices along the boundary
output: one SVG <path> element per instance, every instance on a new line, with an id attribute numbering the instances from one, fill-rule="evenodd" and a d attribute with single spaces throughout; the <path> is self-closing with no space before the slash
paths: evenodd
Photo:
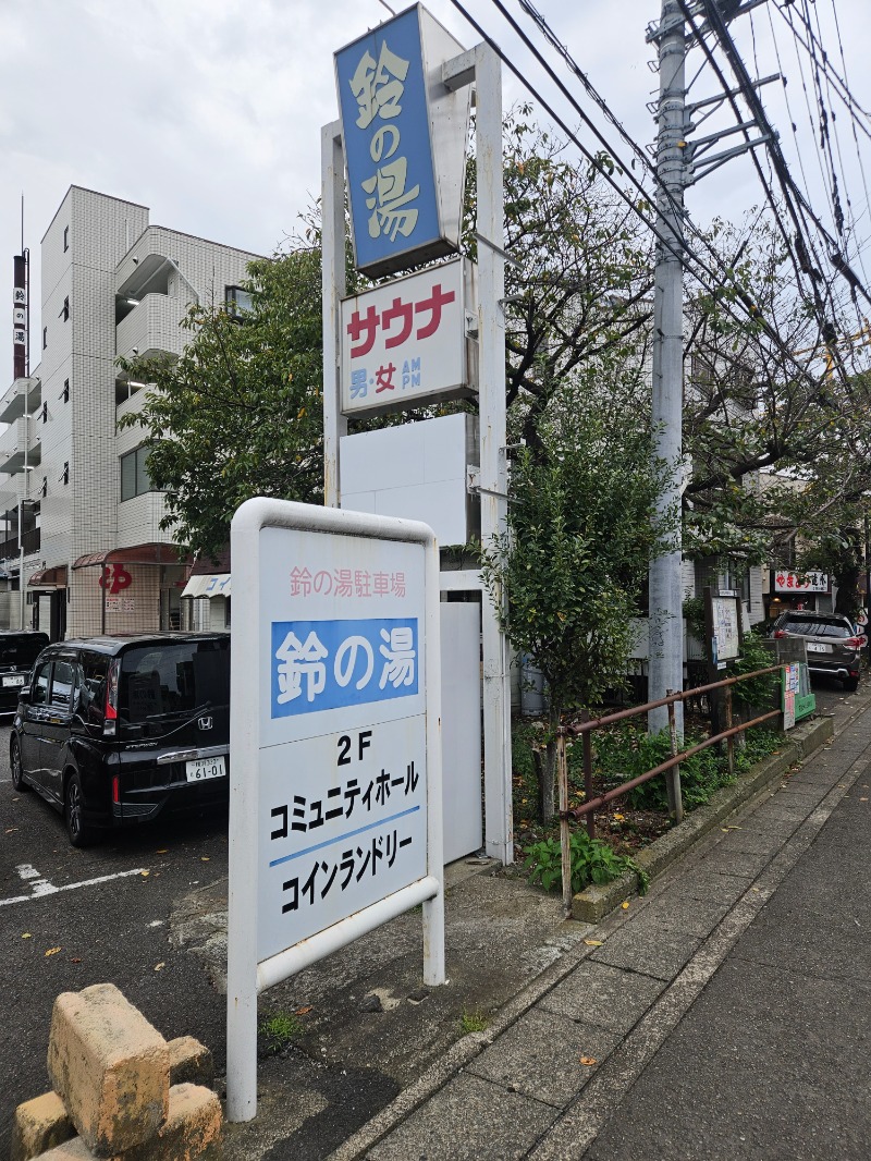
<path id="1" fill-rule="evenodd" d="M 345 414 L 468 394 L 465 280 L 473 269 L 458 259 L 343 301 Z"/>

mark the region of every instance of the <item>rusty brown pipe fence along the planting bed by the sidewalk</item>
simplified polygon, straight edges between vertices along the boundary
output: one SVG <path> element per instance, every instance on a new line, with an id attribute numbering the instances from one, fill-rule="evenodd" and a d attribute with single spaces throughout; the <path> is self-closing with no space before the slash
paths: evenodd
<path id="1" fill-rule="evenodd" d="M 669 692 L 667 697 L 660 698 L 658 701 L 648 701 L 643 706 L 633 706 L 631 709 L 620 709 L 614 714 L 606 714 L 604 717 L 593 717 L 590 721 L 580 722 L 576 726 L 561 726 L 556 735 L 556 777 L 560 791 L 560 848 L 562 853 L 562 907 L 566 918 L 571 915 L 571 849 L 570 849 L 570 831 L 569 822 L 571 820 L 586 819 L 586 831 L 590 838 L 596 835 L 596 810 L 600 809 L 607 802 L 612 802 L 614 799 L 621 798 L 627 794 L 631 789 L 636 786 L 641 786 L 643 783 L 650 781 L 652 778 L 657 778 L 660 774 L 665 776 L 665 791 L 668 793 L 669 801 L 669 817 L 672 822 L 678 823 L 684 816 L 684 805 L 683 796 L 681 794 L 681 763 L 685 762 L 686 758 L 691 758 L 694 753 L 700 750 L 706 750 L 710 745 L 715 745 L 718 742 L 726 742 L 726 753 L 729 774 L 735 772 L 735 736 L 750 729 L 753 726 L 760 726 L 762 722 L 770 721 L 772 717 L 779 717 L 779 709 L 771 709 L 769 713 L 760 714 L 758 717 L 754 717 L 750 721 L 739 722 L 737 726 L 732 724 L 732 687 L 737 685 L 739 682 L 749 682 L 754 678 L 764 677 L 765 673 L 778 673 L 783 672 L 785 665 L 769 665 L 766 669 L 754 670 L 753 673 L 741 673 L 737 677 L 726 677 L 721 682 L 711 682 L 708 685 L 699 685 L 692 690 L 679 691 L 677 693 Z M 690 698 L 697 698 L 703 693 L 714 693 L 715 691 L 724 690 L 724 720 L 726 722 L 726 728 L 717 734 L 711 734 L 710 737 L 705 738 L 704 742 L 699 742 L 697 745 L 691 745 L 688 750 L 682 750 L 678 752 L 677 743 L 677 726 L 675 722 L 675 704 L 678 701 L 686 701 Z M 670 748 L 671 757 L 667 762 L 661 762 L 658 766 L 654 766 L 652 770 L 645 771 L 643 774 L 639 774 L 636 778 L 629 778 L 627 781 L 621 783 L 613 789 L 606 791 L 604 794 L 593 796 L 592 793 L 592 737 L 591 734 L 596 729 L 600 729 L 604 726 L 613 726 L 616 722 L 626 721 L 628 717 L 638 717 L 640 714 L 646 714 L 649 709 L 657 709 L 660 706 L 668 706 L 669 714 L 669 734 L 670 734 Z M 568 757 L 566 753 L 566 740 L 568 735 L 578 735 L 582 738 L 582 744 L 584 748 L 584 801 L 581 806 L 573 807 L 569 810 L 569 770 L 568 770 Z"/>

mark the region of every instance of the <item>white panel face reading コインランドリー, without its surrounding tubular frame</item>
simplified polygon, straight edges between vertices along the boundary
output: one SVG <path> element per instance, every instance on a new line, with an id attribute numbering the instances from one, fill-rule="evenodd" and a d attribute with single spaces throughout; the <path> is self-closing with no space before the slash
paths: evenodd
<path id="1" fill-rule="evenodd" d="M 258 959 L 426 874 L 423 545 L 260 534 Z"/>

